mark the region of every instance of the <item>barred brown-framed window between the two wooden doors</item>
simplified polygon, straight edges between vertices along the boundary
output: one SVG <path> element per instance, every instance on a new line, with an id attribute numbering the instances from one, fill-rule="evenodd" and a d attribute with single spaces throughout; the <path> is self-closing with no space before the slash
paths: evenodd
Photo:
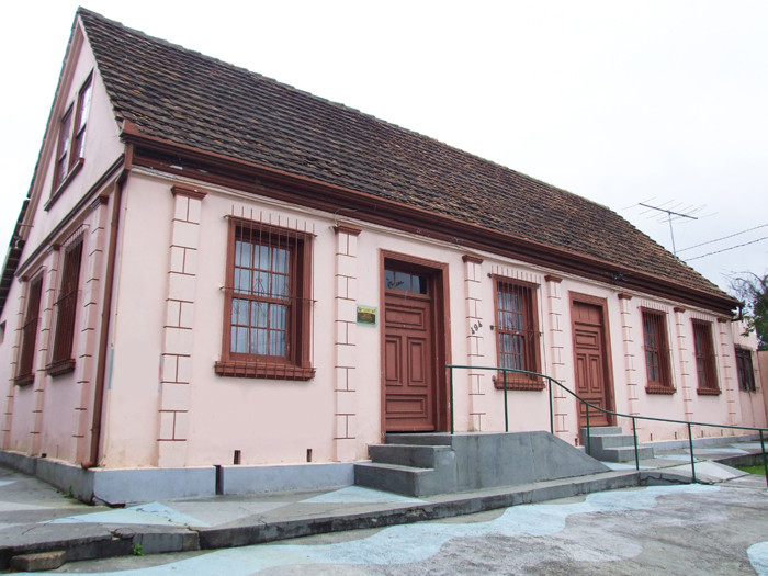
<path id="1" fill-rule="evenodd" d="M 494 276 L 496 286 L 496 347 L 499 368 L 541 372 L 537 286 L 528 282 Z M 504 388 L 505 373 L 496 376 Z M 507 389 L 543 389 L 535 376 L 506 373 Z"/>

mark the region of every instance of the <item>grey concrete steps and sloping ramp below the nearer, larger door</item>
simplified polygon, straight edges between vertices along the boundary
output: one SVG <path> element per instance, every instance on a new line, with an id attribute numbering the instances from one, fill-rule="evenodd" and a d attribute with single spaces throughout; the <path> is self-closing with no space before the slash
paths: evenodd
<path id="1" fill-rule="evenodd" d="M 354 465 L 354 484 L 407 496 L 432 496 L 609 468 L 546 432 L 387 434 Z"/>

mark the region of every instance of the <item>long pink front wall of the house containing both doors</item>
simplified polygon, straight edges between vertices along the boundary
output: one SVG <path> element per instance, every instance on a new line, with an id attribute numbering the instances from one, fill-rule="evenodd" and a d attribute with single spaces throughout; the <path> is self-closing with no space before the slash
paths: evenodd
<path id="1" fill-rule="evenodd" d="M 347 339 L 343 346 L 353 347 L 351 379 L 354 386 L 352 395 L 345 395 L 352 398 L 349 406 L 352 406 L 353 416 L 345 419 L 347 437 L 340 440 L 336 417 L 340 337 L 336 327 L 341 264 L 334 219 L 315 211 L 211 185 L 200 187 L 207 192 L 203 200 L 180 201 L 171 194 L 171 187 L 179 183 L 195 188 L 194 183 L 176 182 L 140 170 L 132 173 L 125 188 L 116 315 L 111 340 L 114 364 L 106 399 L 105 464 L 114 467 L 228 464 L 235 450 L 240 451 L 242 464 L 303 462 L 309 449 L 314 461 L 364 459 L 368 444 L 379 442 L 381 437 L 381 331 L 379 327 L 355 325 L 343 336 Z M 182 212 L 195 206 L 194 222 L 183 219 L 189 215 L 179 221 L 180 205 Z M 222 286 L 227 253 L 225 216 L 235 213 L 250 217 L 251 211 L 253 219 L 287 223 L 290 227 L 314 230 L 316 235 L 313 242 L 316 301 L 313 357 L 317 375 L 309 382 L 222 377 L 214 373 L 213 364 L 222 347 Z M 174 231 L 179 222 L 187 230 L 183 240 Z M 711 314 L 687 309 L 676 316 L 674 303 L 642 295 L 622 301 L 614 286 L 567 276 L 555 285 L 544 279 L 545 270 L 502 261 L 490 255 L 482 255 L 484 262 L 468 272 L 462 261 L 464 252 L 452 246 L 364 223 L 353 224 L 362 228 L 362 233 L 355 237 L 354 256 L 343 255 L 347 258 L 343 272 L 352 274 L 345 278 L 354 280 L 353 293 L 347 294 L 353 296 L 353 303 L 381 305 L 381 250 L 416 253 L 448 263 L 454 363 L 466 363 L 471 350 L 467 298 L 472 296 L 478 302 L 476 315 L 484 326 L 476 336 L 479 355 L 475 365 L 496 364 L 495 335 L 488 329 L 494 324 L 494 289 L 487 274 L 500 273 L 540 284 L 538 314 L 544 332 L 543 370 L 556 374 L 565 385 L 573 387 L 575 380 L 568 294 L 586 293 L 605 298 L 607 303 L 617 410 L 721 423 L 758 421 L 754 415 L 743 414 L 741 404 L 735 402 L 738 392 L 730 324 L 718 323 Z M 187 249 L 195 252 L 196 262 L 189 271 L 191 280 L 180 289 L 183 294 L 174 293 L 172 280 L 173 250 L 179 242 L 185 242 Z M 477 286 L 472 290 L 466 289 L 467 275 L 476 280 Z M 168 303 L 176 297 L 190 304 L 185 313 L 191 328 L 189 341 L 177 341 L 176 336 L 168 336 Z M 641 307 L 667 314 L 676 387 L 673 395 L 645 393 Z M 691 317 L 707 319 L 716 329 L 713 338 L 722 388 L 719 396 L 704 397 L 696 393 Z M 174 373 L 170 380 L 181 379 L 183 385 L 169 384 L 162 360 L 168 350 L 179 347 L 189 351 L 190 363 L 182 376 Z M 494 387 L 489 374 L 481 376 L 478 382 L 467 374 L 456 374 L 456 429 L 502 430 L 504 393 Z M 473 383 L 477 387 L 473 388 Z M 170 396 L 169 389 L 174 391 L 174 396 Z M 508 394 L 511 430 L 549 429 L 546 392 Z M 555 403 L 556 410 L 563 414 L 557 432 L 574 442 L 578 434 L 575 400 L 562 397 Z M 729 411 L 734 403 L 735 407 Z M 172 421 L 167 419 L 169 413 L 174 415 Z M 622 423 L 629 429 L 626 422 Z M 654 440 L 671 439 L 676 432 L 684 434 L 685 426 L 641 423 L 639 431 L 644 441 L 652 434 Z M 351 449 L 342 449 L 342 445 Z"/>

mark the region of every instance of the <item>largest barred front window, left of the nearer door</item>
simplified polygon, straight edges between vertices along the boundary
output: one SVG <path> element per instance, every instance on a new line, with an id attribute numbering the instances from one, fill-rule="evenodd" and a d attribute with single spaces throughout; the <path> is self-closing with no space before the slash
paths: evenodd
<path id="1" fill-rule="evenodd" d="M 309 380 L 310 235 L 231 218 L 223 376 Z"/>

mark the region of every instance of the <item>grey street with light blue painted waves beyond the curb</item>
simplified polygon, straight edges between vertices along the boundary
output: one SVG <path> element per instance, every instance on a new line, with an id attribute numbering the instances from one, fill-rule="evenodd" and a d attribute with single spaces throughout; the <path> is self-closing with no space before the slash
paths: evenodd
<path id="1" fill-rule="evenodd" d="M 53 572 L 768 576 L 768 490 L 758 476 L 628 488 L 379 530 L 69 563 Z"/>

